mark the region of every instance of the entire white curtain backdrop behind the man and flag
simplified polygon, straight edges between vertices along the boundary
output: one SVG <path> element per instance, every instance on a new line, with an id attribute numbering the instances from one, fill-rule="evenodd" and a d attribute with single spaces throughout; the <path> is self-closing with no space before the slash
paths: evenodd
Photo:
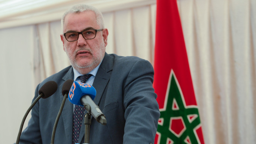
<path id="1" fill-rule="evenodd" d="M 256 1 L 177 2 L 205 144 L 255 143 Z M 107 53 L 153 64 L 155 15 L 155 4 L 104 10 Z M 0 29 L 1 143 L 15 143 L 36 85 L 69 65 L 61 33 L 60 19 Z"/>

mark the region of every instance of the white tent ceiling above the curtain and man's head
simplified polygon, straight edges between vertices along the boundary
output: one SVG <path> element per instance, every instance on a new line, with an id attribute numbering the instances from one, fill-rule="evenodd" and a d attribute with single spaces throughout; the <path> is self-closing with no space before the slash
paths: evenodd
<path id="1" fill-rule="evenodd" d="M 74 4 L 89 4 L 111 12 L 156 3 L 156 0 L 0 0 L 0 28 L 60 20 Z"/>

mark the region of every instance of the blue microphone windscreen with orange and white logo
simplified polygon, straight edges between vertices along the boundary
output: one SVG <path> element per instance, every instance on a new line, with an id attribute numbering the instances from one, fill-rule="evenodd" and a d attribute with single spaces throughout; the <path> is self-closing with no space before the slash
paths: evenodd
<path id="1" fill-rule="evenodd" d="M 74 81 L 68 93 L 68 100 L 72 104 L 83 106 L 80 100 L 84 95 L 89 95 L 93 100 L 96 96 L 96 89 L 87 83 Z"/>

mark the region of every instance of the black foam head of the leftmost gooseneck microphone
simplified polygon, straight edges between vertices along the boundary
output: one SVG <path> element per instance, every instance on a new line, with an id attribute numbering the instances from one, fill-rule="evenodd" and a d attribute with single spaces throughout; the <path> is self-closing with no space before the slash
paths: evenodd
<path id="1" fill-rule="evenodd" d="M 39 95 L 43 94 L 42 98 L 48 98 L 53 95 L 58 89 L 58 85 L 54 81 L 46 82 L 38 91 Z"/>

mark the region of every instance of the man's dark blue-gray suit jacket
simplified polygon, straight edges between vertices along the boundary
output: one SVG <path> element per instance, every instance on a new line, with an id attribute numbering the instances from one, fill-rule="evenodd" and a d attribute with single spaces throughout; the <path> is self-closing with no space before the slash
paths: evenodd
<path id="1" fill-rule="evenodd" d="M 94 102 L 105 114 L 107 125 L 103 126 L 92 118 L 90 144 L 154 143 L 160 113 L 152 87 L 153 74 L 152 65 L 144 59 L 105 53 L 93 86 L 97 91 Z M 58 83 L 54 95 L 40 99 L 33 107 L 20 144 L 51 143 L 54 122 L 63 101 L 62 86 L 65 80 L 73 79 L 73 75 L 69 66 L 37 86 L 35 98 L 46 82 L 53 80 Z M 67 99 L 57 125 L 55 144 L 72 144 L 72 124 L 73 105 Z M 82 123 L 81 144 L 84 143 L 84 129 Z"/>

